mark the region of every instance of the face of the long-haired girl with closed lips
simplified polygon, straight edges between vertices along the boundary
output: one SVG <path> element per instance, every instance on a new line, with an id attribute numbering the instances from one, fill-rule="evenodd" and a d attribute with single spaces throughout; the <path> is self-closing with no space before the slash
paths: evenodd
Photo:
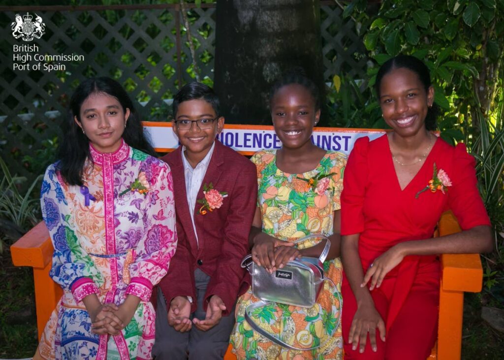
<path id="1" fill-rule="evenodd" d="M 74 120 L 96 150 L 111 153 L 121 145 L 129 116 L 129 108 L 124 112 L 115 97 L 99 92 L 92 93 L 84 100 L 79 117 L 74 116 Z"/>

